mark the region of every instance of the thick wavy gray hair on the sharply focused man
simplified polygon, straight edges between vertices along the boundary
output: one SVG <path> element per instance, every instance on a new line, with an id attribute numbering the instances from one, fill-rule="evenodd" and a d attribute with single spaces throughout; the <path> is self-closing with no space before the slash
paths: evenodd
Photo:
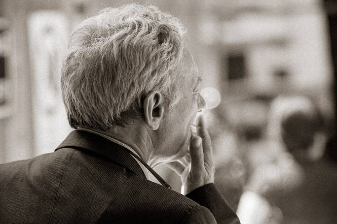
<path id="1" fill-rule="evenodd" d="M 71 127 L 108 130 L 142 116 L 158 91 L 172 105 L 181 95 L 185 28 L 154 6 L 106 8 L 72 34 L 61 89 Z"/>

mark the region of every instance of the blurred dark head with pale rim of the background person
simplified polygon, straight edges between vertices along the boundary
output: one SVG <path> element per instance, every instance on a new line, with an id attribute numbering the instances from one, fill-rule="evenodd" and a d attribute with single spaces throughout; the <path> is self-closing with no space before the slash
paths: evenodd
<path id="1" fill-rule="evenodd" d="M 283 142 L 290 152 L 308 150 L 322 126 L 318 108 L 305 96 L 276 98 L 269 119 L 269 135 Z"/>

